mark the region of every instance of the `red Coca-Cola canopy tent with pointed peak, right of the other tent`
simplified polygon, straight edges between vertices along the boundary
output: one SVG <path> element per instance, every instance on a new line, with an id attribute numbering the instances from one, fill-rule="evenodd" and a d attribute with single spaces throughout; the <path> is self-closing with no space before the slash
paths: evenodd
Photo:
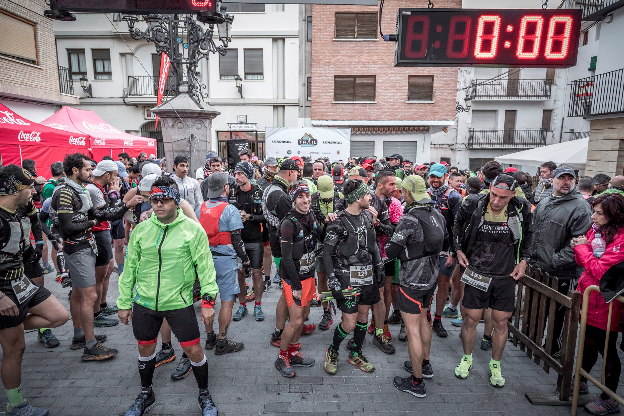
<path id="1" fill-rule="evenodd" d="M 92 157 L 100 161 L 104 156 L 117 160 L 119 153 L 128 153 L 131 157 L 145 152 L 156 154 L 156 139 L 135 136 L 122 132 L 105 122 L 91 110 L 78 110 L 73 107 L 63 107 L 51 117 L 41 122 L 43 125 L 80 132 L 90 136 L 90 152 Z"/>

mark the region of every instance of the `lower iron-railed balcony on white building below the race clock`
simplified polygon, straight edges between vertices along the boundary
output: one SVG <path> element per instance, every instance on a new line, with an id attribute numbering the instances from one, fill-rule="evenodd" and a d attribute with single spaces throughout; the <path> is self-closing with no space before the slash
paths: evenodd
<path id="1" fill-rule="evenodd" d="M 546 144 L 545 128 L 469 128 L 469 149 L 534 148 Z"/>

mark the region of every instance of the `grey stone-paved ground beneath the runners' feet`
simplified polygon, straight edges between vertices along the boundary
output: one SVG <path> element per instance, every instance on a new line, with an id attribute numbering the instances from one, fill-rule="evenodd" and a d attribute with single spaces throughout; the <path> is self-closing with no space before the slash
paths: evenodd
<path id="1" fill-rule="evenodd" d="M 275 268 L 274 268 L 275 270 Z M 249 279 L 250 280 L 250 279 Z M 52 274 L 46 275 L 46 286 L 62 304 L 69 307 L 67 289 L 56 283 Z M 110 278 L 109 301 L 117 296 L 117 274 Z M 234 341 L 245 343 L 245 349 L 236 354 L 208 357 L 208 387 L 220 415 L 565 415 L 569 407 L 534 406 L 525 399 L 525 393 L 554 393 L 554 372 L 545 374 L 538 365 L 512 344 L 507 343 L 502 360 L 502 370 L 507 384 L 502 389 L 489 385 L 488 364 L 490 352 L 479 349 L 483 325 L 477 328 L 474 349 L 474 367 L 467 380 L 454 377 L 453 369 L 462 356 L 459 328 L 451 326 L 451 319 L 443 319 L 449 337 L 434 334 L 431 347 L 431 364 L 434 378 L 426 381 L 427 397 L 418 399 L 397 390 L 392 384 L 395 375 L 406 377 L 402 362 L 407 357 L 407 344 L 397 340 L 399 326 L 391 326 L 395 354 L 383 354 L 372 344 L 368 335 L 364 354 L 375 365 L 371 374 L 361 372 L 346 362 L 347 352 L 340 352 L 338 374 L 328 375 L 323 369 L 324 352 L 331 343 L 334 323 L 329 331 L 316 329 L 313 334 L 301 337 L 301 351 L 313 357 L 313 367 L 297 367 L 296 377 L 286 379 L 273 366 L 278 349 L 270 346 L 270 333 L 275 327 L 275 305 L 281 292 L 276 284 L 264 294 L 262 305 L 266 314 L 263 322 L 256 322 L 250 314 L 242 321 L 232 322 L 228 334 Z M 218 306 L 218 302 L 217 302 Z M 235 306 L 237 307 L 237 305 Z M 198 311 L 198 307 L 196 308 Z M 218 311 L 217 311 L 218 313 Z M 197 313 L 199 316 L 199 313 Z M 321 308 L 313 308 L 308 323 L 318 324 Z M 200 322 L 201 325 L 201 322 Z M 202 329 L 202 345 L 205 332 Z M 82 350 L 72 351 L 71 321 L 54 329 L 61 346 L 46 349 L 37 342 L 36 333 L 26 334 L 26 353 L 22 362 L 22 394 L 36 406 L 46 407 L 54 416 L 70 415 L 123 415 L 134 402 L 140 385 L 137 372 L 137 344 L 130 326 L 96 329 L 97 334 L 107 334 L 107 346 L 119 349 L 113 359 L 102 362 L 80 360 Z M 182 354 L 173 339 L 178 358 Z M 346 341 L 344 342 L 346 343 Z M 160 347 L 160 341 L 158 343 Z M 176 360 L 177 362 L 177 360 Z M 594 367 L 594 374 L 602 362 Z M 148 415 L 198 415 L 197 384 L 193 375 L 184 380 L 172 380 L 170 374 L 175 362 L 163 364 L 154 374 L 154 391 L 157 405 Z M 590 394 L 598 389 L 590 384 Z M 6 402 L 4 390 L 0 400 Z M 6 409 L 4 405 L 0 408 Z M 579 414 L 584 414 L 579 409 Z"/>

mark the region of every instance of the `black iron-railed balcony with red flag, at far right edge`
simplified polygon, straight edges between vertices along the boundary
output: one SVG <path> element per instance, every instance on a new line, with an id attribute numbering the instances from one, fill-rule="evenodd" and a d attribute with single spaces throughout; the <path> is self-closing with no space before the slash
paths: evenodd
<path id="1" fill-rule="evenodd" d="M 568 117 L 624 113 L 624 69 L 572 81 Z"/>

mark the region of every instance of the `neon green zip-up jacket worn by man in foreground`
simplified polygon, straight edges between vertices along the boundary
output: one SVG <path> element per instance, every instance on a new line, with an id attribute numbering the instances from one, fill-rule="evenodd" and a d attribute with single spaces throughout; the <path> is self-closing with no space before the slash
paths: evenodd
<path id="1" fill-rule="evenodd" d="M 180 208 L 170 224 L 152 215 L 130 236 L 124 273 L 119 276 L 117 307 L 130 309 L 132 302 L 152 311 L 187 307 L 193 303 L 195 270 L 200 293 L 217 296 L 217 275 L 202 226 Z"/>

